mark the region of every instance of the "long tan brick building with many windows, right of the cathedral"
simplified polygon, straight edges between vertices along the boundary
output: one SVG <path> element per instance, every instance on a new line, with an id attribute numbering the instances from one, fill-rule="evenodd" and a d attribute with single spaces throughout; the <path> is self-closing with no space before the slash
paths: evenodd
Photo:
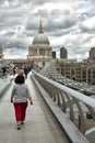
<path id="1" fill-rule="evenodd" d="M 75 81 L 95 85 L 95 64 L 90 59 L 86 62 L 76 62 L 76 59 L 57 59 L 56 68 L 64 77 Z"/>

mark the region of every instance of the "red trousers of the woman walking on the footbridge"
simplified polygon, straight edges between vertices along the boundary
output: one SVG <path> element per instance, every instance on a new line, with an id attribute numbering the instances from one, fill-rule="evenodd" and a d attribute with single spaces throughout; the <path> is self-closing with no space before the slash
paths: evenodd
<path id="1" fill-rule="evenodd" d="M 27 101 L 26 102 L 19 102 L 19 103 L 14 102 L 16 122 L 25 120 L 26 108 L 27 108 Z"/>

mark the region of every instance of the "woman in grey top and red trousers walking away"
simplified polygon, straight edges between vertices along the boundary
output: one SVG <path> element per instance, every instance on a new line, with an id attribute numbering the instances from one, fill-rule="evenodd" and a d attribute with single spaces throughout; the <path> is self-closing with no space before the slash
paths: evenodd
<path id="1" fill-rule="evenodd" d="M 11 103 L 13 103 L 14 106 L 17 130 L 20 130 L 22 124 L 24 124 L 25 121 L 26 108 L 28 105 L 27 99 L 29 99 L 31 105 L 33 105 L 33 100 L 28 87 L 25 84 L 25 78 L 23 74 L 17 75 L 15 77 L 14 82 L 15 84 L 11 91 Z"/>

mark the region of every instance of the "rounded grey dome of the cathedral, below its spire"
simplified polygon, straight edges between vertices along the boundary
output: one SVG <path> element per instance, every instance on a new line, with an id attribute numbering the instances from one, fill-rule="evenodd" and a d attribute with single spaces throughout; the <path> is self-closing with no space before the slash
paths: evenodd
<path id="1" fill-rule="evenodd" d="M 45 34 L 38 33 L 34 37 L 33 44 L 47 44 L 47 45 L 49 45 L 49 41 L 48 41 L 48 37 Z"/>

